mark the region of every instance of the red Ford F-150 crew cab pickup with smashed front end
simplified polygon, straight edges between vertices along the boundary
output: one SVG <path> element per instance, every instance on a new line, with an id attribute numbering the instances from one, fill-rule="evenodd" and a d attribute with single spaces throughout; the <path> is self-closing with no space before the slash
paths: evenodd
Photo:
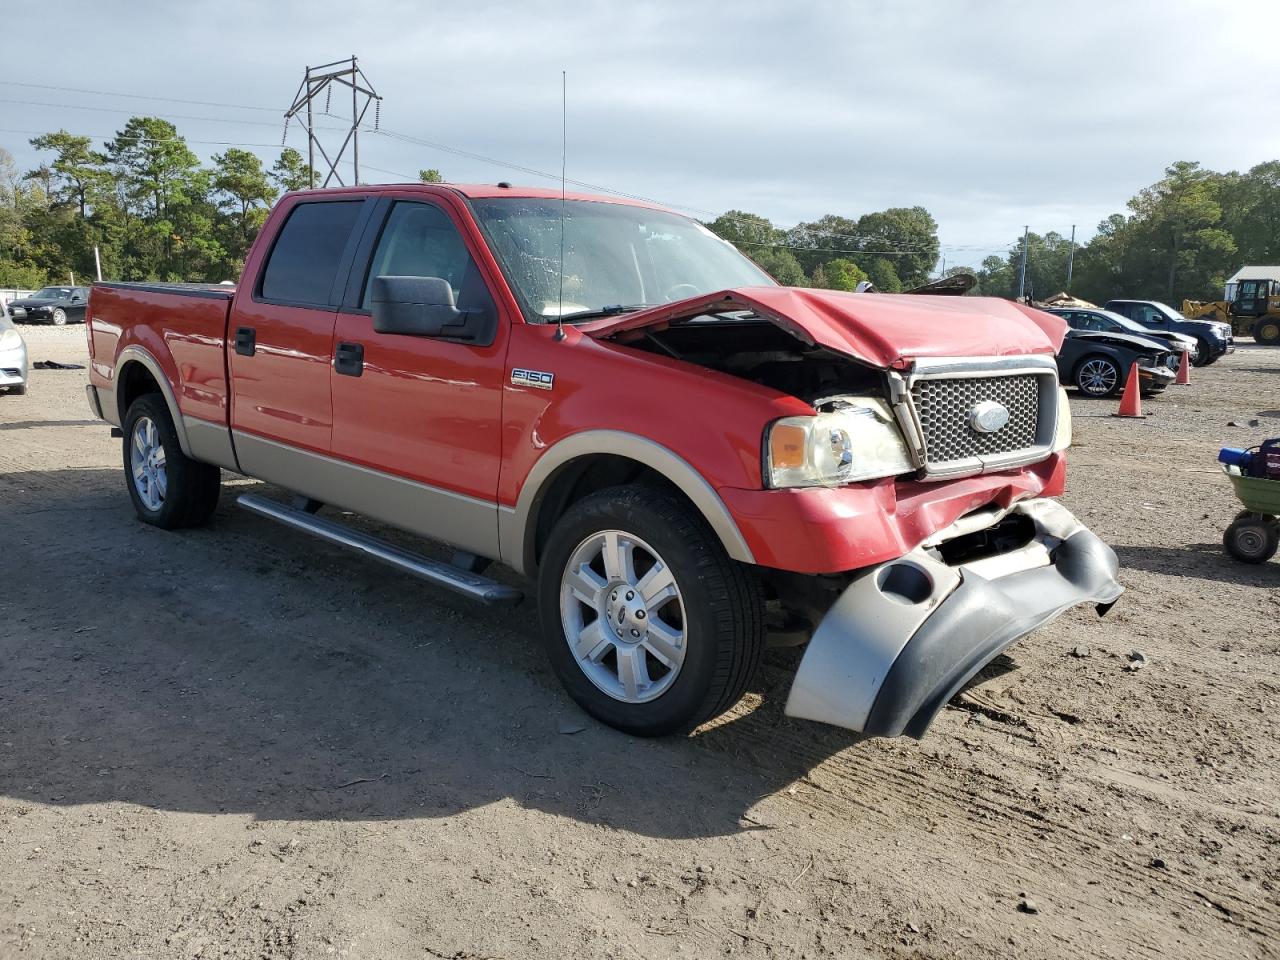
<path id="1" fill-rule="evenodd" d="M 100 283 L 93 412 L 165 529 L 241 506 L 488 603 L 532 581 L 570 695 L 687 730 L 769 643 L 786 704 L 922 736 L 1002 649 L 1120 595 L 1050 497 L 1062 321 L 1001 300 L 777 285 L 699 223 L 497 186 L 291 193 L 236 287 Z M 444 541 L 449 562 L 323 516 Z"/>

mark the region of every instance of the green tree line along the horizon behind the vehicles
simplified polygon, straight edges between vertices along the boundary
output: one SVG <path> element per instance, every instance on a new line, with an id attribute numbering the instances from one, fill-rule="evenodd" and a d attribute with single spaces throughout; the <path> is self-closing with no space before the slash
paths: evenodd
<path id="1" fill-rule="evenodd" d="M 90 278 L 95 247 L 113 279 L 236 279 L 271 204 L 306 188 L 314 173 L 292 147 L 270 168 L 238 147 L 206 166 L 172 123 L 154 116 L 131 118 L 101 150 L 65 131 L 31 145 L 47 159 L 28 172 L 0 148 L 0 287 Z M 443 179 L 435 169 L 419 178 Z M 1280 161 L 1247 173 L 1176 163 L 1128 207 L 1074 248 L 1073 293 L 1213 300 L 1240 264 L 1280 262 Z M 928 282 L 941 252 L 938 225 L 922 206 L 828 214 L 790 229 L 730 210 L 707 227 L 796 287 L 851 291 L 869 280 L 899 292 Z M 1016 296 L 1021 247 L 1019 237 L 1007 255 L 947 273 L 974 274 L 977 293 Z M 1064 289 L 1071 255 L 1059 233 L 1029 234 L 1027 292 Z"/>

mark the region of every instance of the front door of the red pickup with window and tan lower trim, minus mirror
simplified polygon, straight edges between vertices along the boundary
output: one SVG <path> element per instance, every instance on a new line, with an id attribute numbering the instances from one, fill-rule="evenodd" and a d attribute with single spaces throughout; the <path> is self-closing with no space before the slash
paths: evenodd
<path id="1" fill-rule="evenodd" d="M 498 311 L 457 212 L 392 200 L 364 278 L 334 330 L 333 449 L 352 463 L 352 509 L 483 556 L 498 556 L 502 383 L 512 317 L 489 343 L 380 334 L 374 276 L 438 276 L 460 310 Z"/>

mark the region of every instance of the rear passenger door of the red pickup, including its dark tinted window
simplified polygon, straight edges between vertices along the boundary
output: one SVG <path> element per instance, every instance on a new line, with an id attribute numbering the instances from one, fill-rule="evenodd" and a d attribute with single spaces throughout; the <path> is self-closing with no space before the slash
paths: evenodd
<path id="1" fill-rule="evenodd" d="M 237 453 L 252 476 L 300 489 L 291 476 L 305 470 L 297 452 L 330 451 L 333 328 L 357 228 L 371 202 L 351 195 L 300 197 L 276 211 L 283 227 L 251 265 L 256 276 L 246 271 L 243 283 L 252 285 L 236 297 L 227 353 Z"/>

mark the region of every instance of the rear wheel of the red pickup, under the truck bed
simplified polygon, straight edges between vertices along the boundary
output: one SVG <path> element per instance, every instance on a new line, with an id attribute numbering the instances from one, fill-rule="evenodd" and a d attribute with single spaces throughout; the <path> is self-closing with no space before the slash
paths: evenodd
<path id="1" fill-rule="evenodd" d="M 159 393 L 133 401 L 124 417 L 124 479 L 138 520 L 177 530 L 209 521 L 221 471 L 182 452 L 169 407 Z"/>

